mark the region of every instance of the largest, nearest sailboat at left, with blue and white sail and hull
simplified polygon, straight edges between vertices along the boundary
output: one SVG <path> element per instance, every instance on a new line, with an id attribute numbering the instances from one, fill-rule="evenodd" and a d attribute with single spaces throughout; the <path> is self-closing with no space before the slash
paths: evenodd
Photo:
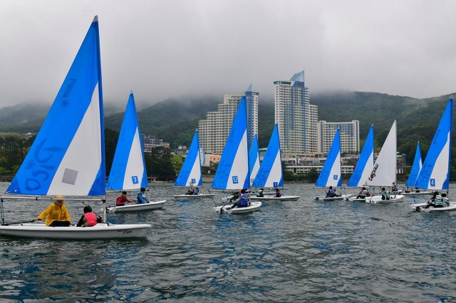
<path id="1" fill-rule="evenodd" d="M 106 172 L 101 83 L 100 38 L 98 16 L 95 16 L 56 100 L 6 190 L 6 193 L 26 196 L 3 196 L 1 203 L 14 198 L 53 201 L 57 195 L 66 196 L 66 201 L 101 201 L 104 223 L 89 228 L 49 227 L 34 223 L 34 220 L 3 223 L 0 235 L 54 239 L 132 238 L 143 237 L 150 230 L 150 224 L 105 223 Z M 36 214 L 33 213 L 33 216 Z"/>

